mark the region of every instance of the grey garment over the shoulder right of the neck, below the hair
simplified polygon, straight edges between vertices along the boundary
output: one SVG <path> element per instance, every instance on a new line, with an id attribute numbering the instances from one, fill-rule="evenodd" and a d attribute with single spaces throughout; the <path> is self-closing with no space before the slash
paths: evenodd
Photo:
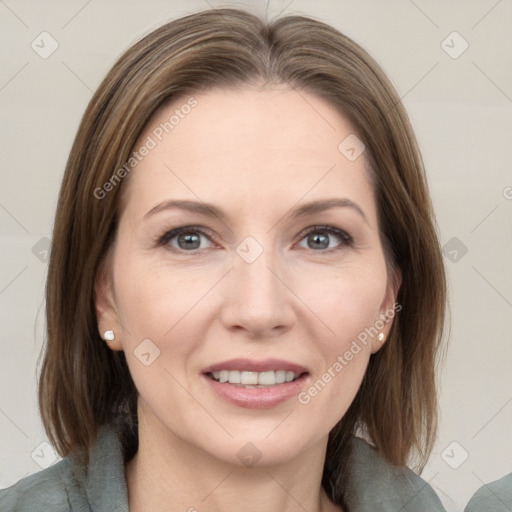
<path id="1" fill-rule="evenodd" d="M 394 466 L 358 437 L 352 439 L 347 501 L 351 510 L 446 512 L 432 487 L 405 466 Z"/>

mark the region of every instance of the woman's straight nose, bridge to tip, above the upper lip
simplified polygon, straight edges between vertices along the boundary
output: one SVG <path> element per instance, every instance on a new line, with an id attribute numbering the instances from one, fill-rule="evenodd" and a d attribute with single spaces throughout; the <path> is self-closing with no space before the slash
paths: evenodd
<path id="1" fill-rule="evenodd" d="M 231 326 L 260 334 L 282 329 L 292 319 L 290 292 L 277 277 L 279 256 L 266 241 L 247 237 L 237 247 L 224 315 Z"/>

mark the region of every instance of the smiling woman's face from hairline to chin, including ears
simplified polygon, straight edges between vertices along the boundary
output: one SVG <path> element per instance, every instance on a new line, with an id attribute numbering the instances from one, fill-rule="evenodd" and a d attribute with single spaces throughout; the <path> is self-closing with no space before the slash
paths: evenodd
<path id="1" fill-rule="evenodd" d="M 148 150 L 127 183 L 100 332 L 114 329 L 158 435 L 276 463 L 326 442 L 396 290 L 365 154 L 332 106 L 284 86 L 195 100 L 162 108 L 134 148 Z"/>

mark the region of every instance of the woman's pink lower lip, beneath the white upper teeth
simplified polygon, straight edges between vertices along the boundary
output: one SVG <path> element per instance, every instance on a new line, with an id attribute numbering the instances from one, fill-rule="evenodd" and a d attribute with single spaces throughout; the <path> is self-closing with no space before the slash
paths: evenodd
<path id="1" fill-rule="evenodd" d="M 270 409 L 297 396 L 304 387 L 308 376 L 309 374 L 304 374 L 292 382 L 284 382 L 267 388 L 244 388 L 229 382 L 217 382 L 202 374 L 217 396 L 226 402 L 247 409 Z"/>

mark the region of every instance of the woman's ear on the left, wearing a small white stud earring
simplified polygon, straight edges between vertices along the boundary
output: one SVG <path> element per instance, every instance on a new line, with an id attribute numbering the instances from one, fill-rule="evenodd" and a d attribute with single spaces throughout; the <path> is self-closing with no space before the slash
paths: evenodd
<path id="1" fill-rule="evenodd" d="M 116 310 L 115 294 L 112 273 L 110 271 L 110 258 L 107 257 L 100 265 L 94 285 L 94 307 L 100 338 L 112 350 L 122 350 L 121 324 Z M 113 331 L 114 339 L 105 339 L 105 331 Z"/>

